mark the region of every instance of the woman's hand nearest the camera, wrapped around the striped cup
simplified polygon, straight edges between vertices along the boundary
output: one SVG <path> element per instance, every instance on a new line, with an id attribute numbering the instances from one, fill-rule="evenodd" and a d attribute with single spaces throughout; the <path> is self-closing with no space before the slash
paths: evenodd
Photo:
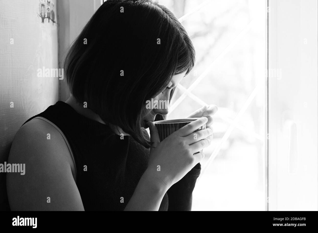
<path id="1" fill-rule="evenodd" d="M 207 121 L 206 117 L 192 121 L 170 134 L 162 142 L 160 142 L 155 124 L 151 121 L 148 122 L 152 146 L 147 172 L 152 176 L 154 182 L 169 189 L 204 158 L 203 152 L 194 153 L 211 144 L 211 141 L 205 138 L 212 134 L 212 130 L 207 128 L 194 131 Z M 194 137 L 194 133 L 196 133 L 196 137 Z"/>

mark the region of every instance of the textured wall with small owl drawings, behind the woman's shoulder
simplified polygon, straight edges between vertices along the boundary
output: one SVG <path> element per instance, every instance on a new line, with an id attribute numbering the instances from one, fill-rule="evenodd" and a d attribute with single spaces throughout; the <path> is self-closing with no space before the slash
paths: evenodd
<path id="1" fill-rule="evenodd" d="M 45 13 L 49 3 L 51 12 Z M 49 3 L 0 1 L 0 163 L 7 161 L 19 127 L 58 100 L 61 80 L 37 76 L 38 68 L 58 68 L 56 0 Z M 0 210 L 6 198 L 0 173 Z"/>

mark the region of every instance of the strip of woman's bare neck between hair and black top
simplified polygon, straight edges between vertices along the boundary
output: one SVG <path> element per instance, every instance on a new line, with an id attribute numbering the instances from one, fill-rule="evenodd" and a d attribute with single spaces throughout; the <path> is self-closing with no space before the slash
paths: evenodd
<path id="1" fill-rule="evenodd" d="M 92 110 L 88 109 L 87 107 L 84 107 L 84 104 L 80 104 L 79 102 L 77 102 L 75 98 L 73 97 L 73 95 L 71 95 L 70 98 L 68 98 L 68 100 L 65 101 L 65 103 L 70 105 L 80 115 L 106 125 L 106 123 L 100 118 L 98 114 L 94 113 Z M 120 135 L 121 133 L 123 133 L 124 135 L 129 135 L 128 133 L 125 133 L 119 126 L 115 126 L 109 122 L 107 125 L 109 125 L 110 128 L 114 131 L 114 133 L 118 135 Z"/>

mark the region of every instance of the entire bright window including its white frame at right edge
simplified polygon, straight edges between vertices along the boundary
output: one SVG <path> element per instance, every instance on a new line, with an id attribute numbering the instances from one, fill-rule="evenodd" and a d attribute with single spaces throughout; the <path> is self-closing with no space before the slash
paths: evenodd
<path id="1" fill-rule="evenodd" d="M 169 118 L 219 107 L 192 210 L 317 210 L 317 2 L 159 2 L 197 51 Z"/>

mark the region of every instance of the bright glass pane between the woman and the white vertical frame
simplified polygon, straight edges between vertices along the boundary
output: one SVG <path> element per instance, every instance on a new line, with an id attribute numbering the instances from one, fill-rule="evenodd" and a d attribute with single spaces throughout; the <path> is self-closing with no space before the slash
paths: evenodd
<path id="1" fill-rule="evenodd" d="M 205 1 L 159 2 L 169 2 L 181 17 L 180 2 L 187 14 Z M 197 53 L 195 68 L 181 85 L 189 88 L 198 78 L 200 82 L 191 91 L 194 96 L 184 98 L 168 118 L 184 118 L 202 103 L 219 108 L 192 210 L 265 210 L 266 13 L 265 1 L 209 1 L 181 18 Z M 176 92 L 172 106 L 182 94 Z"/>

